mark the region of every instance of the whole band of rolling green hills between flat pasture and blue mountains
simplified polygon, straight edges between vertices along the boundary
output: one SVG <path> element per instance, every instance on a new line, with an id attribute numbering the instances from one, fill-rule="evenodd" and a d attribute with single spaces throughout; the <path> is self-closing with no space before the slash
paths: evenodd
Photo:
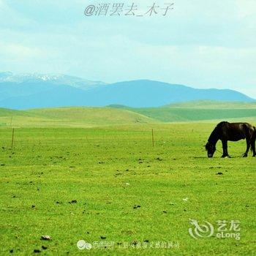
<path id="1" fill-rule="evenodd" d="M 0 108 L 0 126 L 14 127 L 99 127 L 118 124 L 151 124 L 182 121 L 256 121 L 256 103 L 185 102 L 161 108 Z"/>

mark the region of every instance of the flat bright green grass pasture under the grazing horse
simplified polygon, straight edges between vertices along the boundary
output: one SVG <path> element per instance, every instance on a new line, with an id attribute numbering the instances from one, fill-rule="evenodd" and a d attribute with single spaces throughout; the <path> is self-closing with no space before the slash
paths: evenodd
<path id="1" fill-rule="evenodd" d="M 231 159 L 206 158 L 213 127 L 24 127 L 12 149 L 2 127 L 0 255 L 254 255 L 256 159 L 241 158 L 244 141 L 230 143 Z M 215 230 L 239 220 L 241 240 L 196 240 L 189 219 Z M 94 247 L 79 250 L 79 240 Z"/>

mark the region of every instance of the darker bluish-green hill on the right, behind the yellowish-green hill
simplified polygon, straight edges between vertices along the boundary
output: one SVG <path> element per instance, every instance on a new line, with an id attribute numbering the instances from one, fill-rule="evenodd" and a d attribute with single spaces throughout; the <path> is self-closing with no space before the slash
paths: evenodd
<path id="1" fill-rule="evenodd" d="M 192 101 L 170 104 L 160 108 L 128 108 L 112 105 L 112 108 L 122 108 L 140 113 L 143 116 L 162 122 L 202 121 L 239 119 L 251 120 L 256 117 L 256 102 L 218 102 Z"/>

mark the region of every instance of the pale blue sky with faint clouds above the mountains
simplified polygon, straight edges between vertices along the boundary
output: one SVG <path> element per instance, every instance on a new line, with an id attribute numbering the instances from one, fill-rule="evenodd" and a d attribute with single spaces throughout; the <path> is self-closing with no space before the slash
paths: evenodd
<path id="1" fill-rule="evenodd" d="M 165 17 L 86 17 L 89 4 L 0 0 L 0 71 L 63 73 L 107 83 L 151 79 L 236 89 L 256 98 L 255 0 L 133 0 Z"/>

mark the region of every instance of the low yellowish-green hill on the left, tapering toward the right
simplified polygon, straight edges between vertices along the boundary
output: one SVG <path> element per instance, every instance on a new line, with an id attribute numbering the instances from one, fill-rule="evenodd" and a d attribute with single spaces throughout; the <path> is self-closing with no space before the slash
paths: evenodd
<path id="1" fill-rule="evenodd" d="M 0 109 L 1 126 L 97 127 L 154 122 L 157 121 L 140 113 L 116 108 L 42 108 L 26 111 Z"/>

